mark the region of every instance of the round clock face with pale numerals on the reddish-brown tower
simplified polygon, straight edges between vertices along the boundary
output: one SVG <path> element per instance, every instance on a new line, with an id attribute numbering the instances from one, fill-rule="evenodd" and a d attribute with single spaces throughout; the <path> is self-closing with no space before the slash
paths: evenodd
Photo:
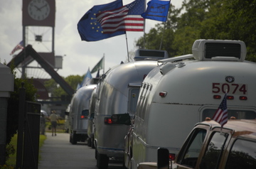
<path id="1" fill-rule="evenodd" d="M 42 21 L 49 16 L 50 6 L 46 0 L 32 0 L 28 4 L 28 14 L 31 18 Z"/>

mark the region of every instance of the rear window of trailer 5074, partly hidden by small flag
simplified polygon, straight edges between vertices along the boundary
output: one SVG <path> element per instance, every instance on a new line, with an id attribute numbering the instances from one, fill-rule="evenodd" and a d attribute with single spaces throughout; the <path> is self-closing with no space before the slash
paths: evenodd
<path id="1" fill-rule="evenodd" d="M 205 121 L 206 117 L 213 118 L 216 109 L 204 109 L 202 115 L 202 121 Z M 228 109 L 228 119 L 235 117 L 235 119 L 256 119 L 255 111 L 243 111 L 243 110 L 230 110 Z"/>

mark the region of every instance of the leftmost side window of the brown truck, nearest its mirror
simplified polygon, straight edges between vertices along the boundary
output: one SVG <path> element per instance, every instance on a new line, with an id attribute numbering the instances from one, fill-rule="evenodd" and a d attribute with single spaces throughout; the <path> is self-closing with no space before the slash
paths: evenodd
<path id="1" fill-rule="evenodd" d="M 195 129 L 184 144 L 180 152 L 181 155 L 178 156 L 177 163 L 195 168 L 205 137 L 205 129 Z"/>

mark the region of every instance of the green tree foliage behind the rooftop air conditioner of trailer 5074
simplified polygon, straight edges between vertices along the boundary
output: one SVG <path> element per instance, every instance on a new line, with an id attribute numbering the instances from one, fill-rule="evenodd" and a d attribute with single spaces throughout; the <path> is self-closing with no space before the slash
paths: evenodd
<path id="1" fill-rule="evenodd" d="M 196 39 L 242 40 L 247 60 L 256 62 L 256 0 L 184 0 L 170 5 L 166 23 L 137 40 L 138 48 L 167 50 L 170 57 L 191 53 Z M 144 43 L 145 42 L 145 43 Z"/>

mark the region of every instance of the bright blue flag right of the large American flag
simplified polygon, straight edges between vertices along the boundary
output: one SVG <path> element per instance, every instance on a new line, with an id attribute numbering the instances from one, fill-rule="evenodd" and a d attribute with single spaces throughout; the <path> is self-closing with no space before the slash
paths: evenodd
<path id="1" fill-rule="evenodd" d="M 142 17 L 165 22 L 167 20 L 170 2 L 159 0 L 149 1 L 146 12 L 142 13 Z"/>

